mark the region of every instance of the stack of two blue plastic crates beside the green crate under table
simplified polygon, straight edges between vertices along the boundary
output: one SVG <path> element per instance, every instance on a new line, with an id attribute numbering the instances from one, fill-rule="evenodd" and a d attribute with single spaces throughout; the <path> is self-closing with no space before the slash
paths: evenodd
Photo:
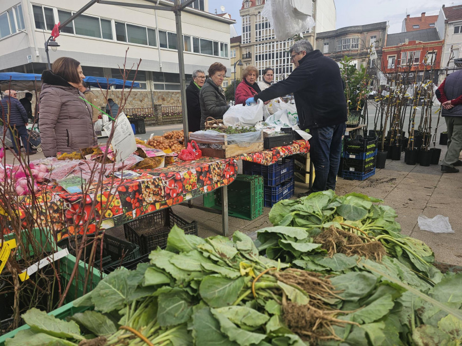
<path id="1" fill-rule="evenodd" d="M 273 207 L 278 201 L 294 195 L 294 159 L 292 157 L 284 157 L 269 166 L 243 161 L 242 171 L 244 174 L 263 177 L 265 207 Z"/>

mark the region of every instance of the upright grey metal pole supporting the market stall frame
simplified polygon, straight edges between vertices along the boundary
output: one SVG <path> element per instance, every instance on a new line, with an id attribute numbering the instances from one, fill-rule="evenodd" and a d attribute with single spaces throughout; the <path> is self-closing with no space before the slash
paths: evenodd
<path id="1" fill-rule="evenodd" d="M 181 108 L 183 110 L 183 132 L 184 132 L 184 146 L 185 148 L 189 142 L 189 132 L 188 132 L 188 110 L 186 107 L 186 79 L 184 77 L 184 42 L 183 42 L 183 33 L 181 30 L 181 2 L 180 0 L 175 0 L 175 22 L 177 24 L 177 49 L 178 49 L 178 67 L 180 69 L 180 95 L 181 95 Z"/>

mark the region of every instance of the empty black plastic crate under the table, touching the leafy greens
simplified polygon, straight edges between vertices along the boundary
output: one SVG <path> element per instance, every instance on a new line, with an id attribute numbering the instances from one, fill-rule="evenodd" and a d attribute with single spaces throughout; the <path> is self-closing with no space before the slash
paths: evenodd
<path id="1" fill-rule="evenodd" d="M 168 233 L 177 225 L 185 234 L 198 234 L 197 222 L 187 222 L 175 215 L 170 208 L 140 216 L 124 224 L 125 238 L 140 247 L 141 255 L 160 247 L 167 247 Z"/>

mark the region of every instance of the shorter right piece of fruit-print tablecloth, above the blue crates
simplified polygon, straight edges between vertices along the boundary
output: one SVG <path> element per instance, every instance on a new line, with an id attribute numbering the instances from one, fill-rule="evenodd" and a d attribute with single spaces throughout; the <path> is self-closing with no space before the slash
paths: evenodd
<path id="1" fill-rule="evenodd" d="M 307 140 L 294 140 L 290 146 L 276 147 L 250 154 L 241 154 L 236 156 L 236 159 L 252 161 L 256 164 L 268 166 L 275 164 L 280 158 L 307 152 L 310 152 L 310 143 Z"/>

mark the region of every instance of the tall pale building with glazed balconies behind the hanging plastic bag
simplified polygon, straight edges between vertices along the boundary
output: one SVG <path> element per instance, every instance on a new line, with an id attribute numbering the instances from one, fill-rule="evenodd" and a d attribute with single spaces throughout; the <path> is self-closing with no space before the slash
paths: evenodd
<path id="1" fill-rule="evenodd" d="M 244 0 L 240 15 L 242 17 L 242 62 L 244 66 L 255 65 L 260 72 L 265 68 L 274 69 L 274 80 L 286 78 L 293 69 L 288 53 L 293 40 L 278 41 L 268 19 L 261 15 L 265 0 Z M 303 33 L 315 47 L 315 35 L 320 31 L 335 29 L 336 10 L 333 0 L 312 1 L 313 17 L 316 26 Z M 319 18 L 319 20 L 318 20 Z M 237 76 L 241 78 L 241 76 Z"/>

